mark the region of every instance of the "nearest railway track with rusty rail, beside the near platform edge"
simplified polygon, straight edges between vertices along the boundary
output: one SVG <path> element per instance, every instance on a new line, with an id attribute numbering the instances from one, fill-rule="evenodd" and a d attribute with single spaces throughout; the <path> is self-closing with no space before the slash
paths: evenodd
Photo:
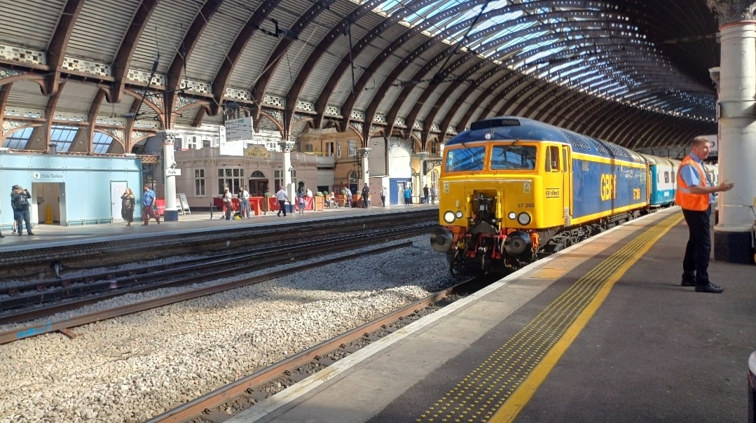
<path id="1" fill-rule="evenodd" d="M 311 373 L 318 372 L 335 363 L 336 360 L 329 358 L 329 355 L 335 354 L 336 357 L 345 357 L 352 354 L 360 347 L 389 335 L 396 329 L 400 329 L 414 320 L 444 307 L 446 304 L 451 304 L 455 301 L 454 297 L 459 298 L 462 295 L 476 292 L 494 279 L 496 278 L 491 276 L 476 277 L 467 279 L 451 288 L 435 292 L 426 298 L 407 304 L 342 335 L 294 354 L 280 363 L 260 369 L 252 375 L 240 378 L 175 409 L 157 415 L 145 423 L 222 421 L 230 416 L 221 409 L 244 408 L 244 406 L 238 406 L 240 399 L 243 400 L 243 403 L 253 406 L 256 401 L 267 397 L 268 394 L 260 390 L 263 385 L 277 379 L 284 379 L 288 382 L 287 384 L 302 380 Z M 234 402 L 236 403 L 234 407 L 227 407 L 227 404 Z"/>

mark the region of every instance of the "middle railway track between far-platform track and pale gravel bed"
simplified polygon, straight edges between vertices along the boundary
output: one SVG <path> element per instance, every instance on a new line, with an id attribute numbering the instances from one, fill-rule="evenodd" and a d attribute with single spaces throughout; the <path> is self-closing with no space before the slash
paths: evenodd
<path id="1" fill-rule="evenodd" d="M 339 236 L 327 241 L 321 240 L 317 242 L 302 242 L 299 245 L 287 245 L 285 247 L 279 247 L 278 249 L 265 249 L 265 252 L 262 252 L 260 254 L 258 254 L 259 251 L 250 251 L 246 252 L 246 255 L 241 255 L 242 257 L 246 257 L 249 260 L 249 262 L 244 264 L 239 264 L 240 253 L 236 252 L 231 253 L 233 257 L 222 255 L 222 257 L 216 256 L 213 258 L 200 258 L 197 260 L 184 261 L 179 264 L 160 264 L 156 265 L 155 271 L 147 271 L 138 275 L 131 275 L 129 274 L 129 271 L 125 271 L 125 276 L 122 279 L 110 279 L 91 284 L 83 283 L 81 287 L 76 289 L 70 284 L 64 283 L 63 286 L 60 286 L 56 290 L 54 290 L 57 291 L 57 294 L 55 295 L 50 295 L 50 293 L 44 291 L 34 292 L 29 295 L 22 296 L 21 298 L 19 298 L 19 300 L 21 303 L 26 304 L 29 301 L 33 301 L 33 299 L 35 298 L 37 300 L 42 300 L 44 299 L 45 295 L 50 295 L 51 297 L 60 297 L 64 295 L 76 295 L 76 292 L 80 292 L 82 293 L 81 295 L 86 295 L 86 297 L 74 299 L 72 301 L 65 301 L 64 303 L 60 304 L 49 304 L 42 307 L 32 304 L 31 307 L 22 308 L 20 310 L 8 310 L 5 313 L 0 313 L 0 323 L 23 323 L 29 320 L 43 318 L 45 316 L 51 316 L 51 314 L 54 313 L 63 313 L 70 310 L 76 310 L 76 308 L 82 307 L 87 304 L 93 304 L 99 301 L 104 301 L 129 293 L 146 292 L 155 289 L 206 283 L 219 278 L 235 276 L 240 273 L 248 273 L 267 267 L 273 267 L 277 264 L 291 263 L 293 261 L 318 257 L 324 254 L 324 247 L 327 247 L 327 252 L 342 252 L 347 249 L 355 249 L 366 245 L 373 245 L 377 242 L 392 241 L 408 236 L 414 236 L 420 233 L 427 233 L 427 231 L 432 226 L 432 224 L 420 224 L 415 227 L 404 227 L 401 230 L 398 228 L 391 228 L 388 230 L 374 231 L 373 233 L 370 233 L 368 235 L 358 234 Z M 358 252 L 350 255 L 343 255 L 339 258 L 331 258 L 328 260 L 319 261 L 319 264 L 330 264 L 339 261 L 353 260 L 360 258 L 363 255 L 377 254 L 391 249 L 398 249 L 404 246 L 407 246 L 407 243 L 373 249 L 369 252 Z M 294 253 L 296 253 L 296 255 Z M 270 257 L 274 258 L 271 259 Z M 234 267 L 229 268 L 229 263 L 233 263 Z M 309 264 L 304 264 L 302 266 L 287 267 L 287 269 L 285 270 L 272 271 L 259 276 L 236 279 L 229 282 L 215 283 L 212 286 L 193 289 L 174 295 L 166 295 L 165 297 L 157 298 L 155 300 L 141 301 L 135 304 L 128 304 L 122 307 L 114 307 L 95 313 L 87 313 L 79 316 L 67 317 L 57 321 L 48 320 L 45 323 L 39 325 L 30 325 L 11 329 L 5 332 L 0 332 L 0 344 L 5 344 L 11 341 L 17 341 L 18 339 L 28 338 L 35 335 L 42 335 L 43 333 L 55 331 L 63 332 L 64 334 L 69 336 L 74 336 L 73 332 L 70 332 L 70 329 L 76 326 L 97 322 L 99 320 L 110 319 L 116 316 L 124 316 L 126 314 L 136 313 L 142 310 L 149 310 L 150 308 L 162 307 L 167 304 L 173 304 L 191 298 L 198 298 L 204 295 L 211 295 L 216 292 L 227 291 L 229 289 L 238 288 L 240 286 L 260 283 L 275 277 L 307 270 L 309 266 Z M 191 274 L 184 275 L 184 273 Z M 111 273 L 108 272 L 103 274 L 110 275 Z M 145 279 L 147 279 L 147 277 L 149 277 L 151 281 L 146 281 Z M 56 283 L 56 281 L 49 282 L 51 283 L 51 286 Z M 29 289 L 32 289 L 36 286 L 36 284 L 27 284 L 26 286 Z M 11 298 L 12 297 L 5 299 L 10 300 Z"/>

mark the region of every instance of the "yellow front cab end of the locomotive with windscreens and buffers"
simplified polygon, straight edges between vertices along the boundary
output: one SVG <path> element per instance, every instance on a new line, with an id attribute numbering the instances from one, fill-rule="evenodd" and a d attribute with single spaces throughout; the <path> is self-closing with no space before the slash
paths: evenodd
<path id="1" fill-rule="evenodd" d="M 476 122 L 445 144 L 433 248 L 452 273 L 502 273 L 537 258 L 541 228 L 565 224 L 566 150 L 528 119 Z M 562 151 L 565 151 L 562 156 Z"/>

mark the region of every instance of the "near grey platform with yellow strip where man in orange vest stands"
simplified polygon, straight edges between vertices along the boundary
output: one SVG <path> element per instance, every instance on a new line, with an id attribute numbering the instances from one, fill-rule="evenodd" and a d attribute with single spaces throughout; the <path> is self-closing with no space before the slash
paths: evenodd
<path id="1" fill-rule="evenodd" d="M 670 208 L 398 329 L 226 423 L 744 421 L 754 267 L 680 286 Z"/>

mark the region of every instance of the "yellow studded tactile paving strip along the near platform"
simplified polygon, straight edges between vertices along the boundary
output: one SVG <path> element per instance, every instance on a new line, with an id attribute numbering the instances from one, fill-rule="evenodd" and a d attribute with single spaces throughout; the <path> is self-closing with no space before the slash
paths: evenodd
<path id="1" fill-rule="evenodd" d="M 674 214 L 650 227 L 578 279 L 417 421 L 491 421 L 494 415 L 495 421 L 515 418 L 619 277 L 681 219 L 680 214 Z M 541 272 L 538 277 L 545 279 L 559 278 L 569 269 L 549 267 L 538 271 Z M 568 335 L 563 336 L 565 333 Z M 538 372 L 534 372 L 537 366 Z M 535 377 L 529 378 L 531 373 Z M 527 386 L 519 389 L 526 379 Z M 507 400 L 513 393 L 518 394 L 516 404 L 507 408 Z"/>

